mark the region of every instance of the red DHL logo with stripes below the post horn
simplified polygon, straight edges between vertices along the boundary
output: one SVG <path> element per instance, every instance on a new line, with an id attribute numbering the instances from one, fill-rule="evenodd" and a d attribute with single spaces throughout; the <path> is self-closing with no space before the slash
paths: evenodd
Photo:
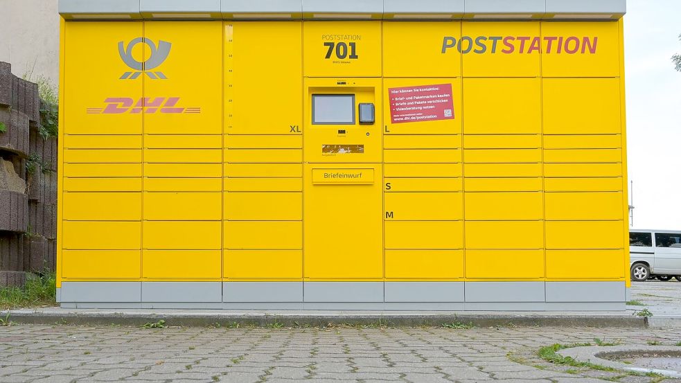
<path id="1" fill-rule="evenodd" d="M 123 113 L 201 113 L 200 107 L 178 107 L 179 97 L 143 97 L 137 100 L 127 97 L 109 97 L 104 100 L 106 107 L 87 108 L 87 114 L 123 114 Z"/>

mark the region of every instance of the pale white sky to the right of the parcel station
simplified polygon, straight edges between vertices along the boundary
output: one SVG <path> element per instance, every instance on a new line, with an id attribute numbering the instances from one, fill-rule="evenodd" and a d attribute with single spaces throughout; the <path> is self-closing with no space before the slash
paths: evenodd
<path id="1" fill-rule="evenodd" d="M 639 229 L 681 230 L 681 0 L 628 0 L 624 17 L 629 179 Z"/>

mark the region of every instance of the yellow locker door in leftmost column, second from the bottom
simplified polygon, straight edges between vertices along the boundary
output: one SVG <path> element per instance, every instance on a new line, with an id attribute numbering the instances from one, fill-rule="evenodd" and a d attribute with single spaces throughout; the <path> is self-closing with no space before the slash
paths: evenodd
<path id="1" fill-rule="evenodd" d="M 63 249 L 140 249 L 140 222 L 63 221 L 62 225 Z"/>

